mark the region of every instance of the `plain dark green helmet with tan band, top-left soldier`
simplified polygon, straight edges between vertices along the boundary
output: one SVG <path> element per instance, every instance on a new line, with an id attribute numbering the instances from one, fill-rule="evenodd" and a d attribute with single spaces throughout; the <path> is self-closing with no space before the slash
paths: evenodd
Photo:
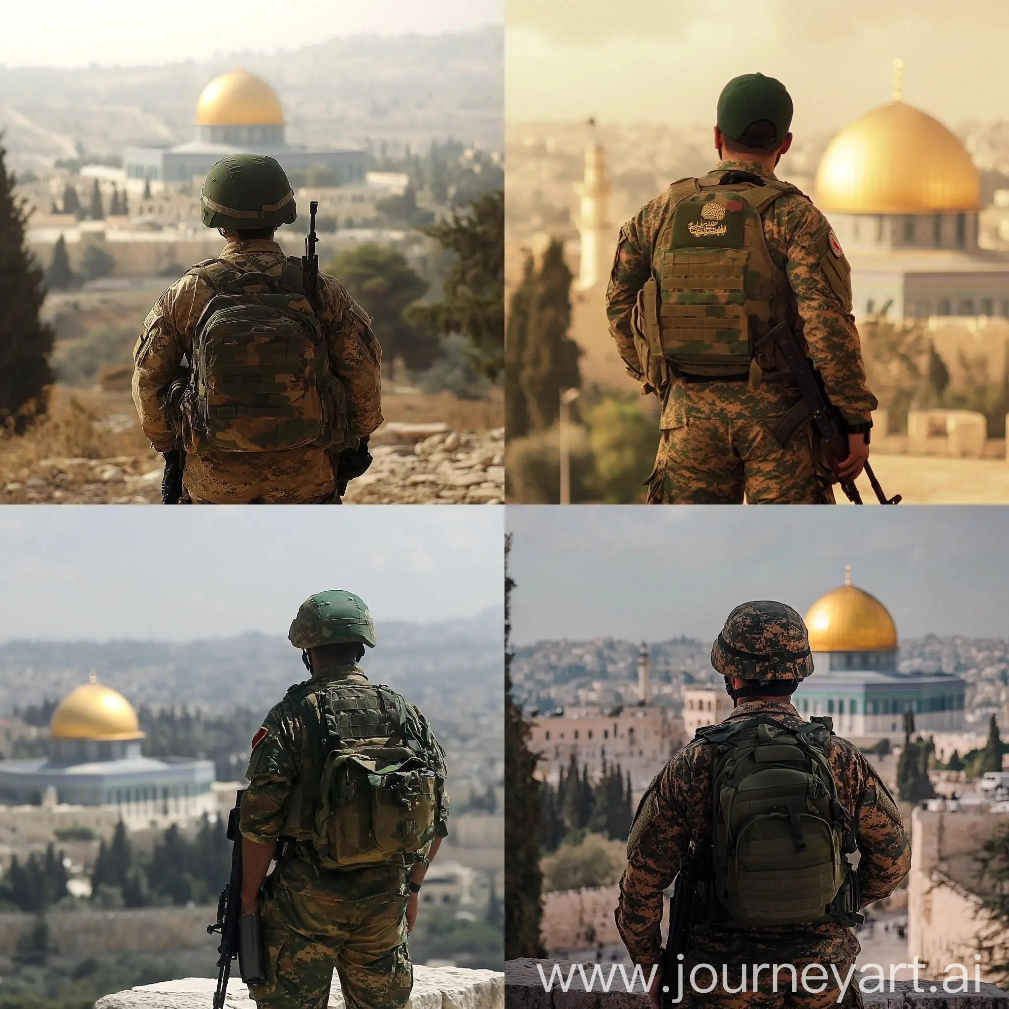
<path id="1" fill-rule="evenodd" d="M 232 154 L 212 165 L 200 191 L 208 228 L 268 228 L 298 217 L 295 194 L 275 158 Z"/>

